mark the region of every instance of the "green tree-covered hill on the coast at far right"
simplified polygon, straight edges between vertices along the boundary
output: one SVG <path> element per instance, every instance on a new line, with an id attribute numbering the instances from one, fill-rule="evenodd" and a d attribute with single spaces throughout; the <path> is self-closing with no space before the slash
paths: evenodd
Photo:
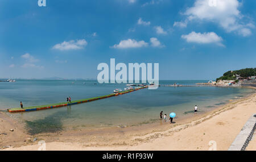
<path id="1" fill-rule="evenodd" d="M 240 76 L 240 77 L 256 76 L 256 68 L 230 70 L 228 72 L 225 72 L 222 77 L 216 78 L 216 81 L 218 81 L 218 80 L 236 80 L 237 76 Z"/>

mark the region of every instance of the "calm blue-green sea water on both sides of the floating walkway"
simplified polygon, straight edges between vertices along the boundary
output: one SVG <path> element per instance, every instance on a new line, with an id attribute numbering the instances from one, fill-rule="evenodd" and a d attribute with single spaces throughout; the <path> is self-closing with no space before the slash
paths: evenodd
<path id="1" fill-rule="evenodd" d="M 191 85 L 207 81 L 160 81 L 160 85 L 179 83 Z M 98 84 L 97 81 L 17 80 L 0 82 L 0 110 L 19 107 L 47 105 L 72 100 L 97 97 L 113 93 L 125 84 Z M 165 87 L 156 90 L 142 89 L 136 92 L 82 103 L 57 109 L 9 114 L 24 122 L 31 132 L 58 131 L 78 127 L 132 126 L 158 121 L 160 111 L 175 112 L 177 118 L 193 114 L 193 107 L 205 113 L 230 99 L 239 99 L 253 93 L 248 88 L 220 87 Z"/>

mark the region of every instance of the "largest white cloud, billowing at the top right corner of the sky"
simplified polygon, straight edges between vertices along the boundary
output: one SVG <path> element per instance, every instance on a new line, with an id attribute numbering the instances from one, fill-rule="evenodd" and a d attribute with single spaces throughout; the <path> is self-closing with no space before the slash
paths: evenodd
<path id="1" fill-rule="evenodd" d="M 210 3 L 210 2 L 216 3 Z M 205 20 L 217 23 L 226 32 L 237 32 L 243 36 L 249 36 L 254 24 L 245 23 L 241 11 L 238 8 L 242 3 L 238 0 L 196 0 L 194 5 L 188 8 L 184 15 L 186 21 Z"/>

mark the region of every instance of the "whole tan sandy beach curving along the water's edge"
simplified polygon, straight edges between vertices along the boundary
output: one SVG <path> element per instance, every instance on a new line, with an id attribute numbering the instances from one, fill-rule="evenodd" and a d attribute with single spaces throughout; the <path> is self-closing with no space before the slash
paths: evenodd
<path id="1" fill-rule="evenodd" d="M 38 150 L 38 142 L 44 140 L 46 150 L 209 150 L 209 142 L 213 141 L 217 150 L 228 150 L 247 119 L 255 113 L 254 93 L 175 124 L 78 129 L 31 136 L 22 125 L 0 112 L 0 132 L 6 133 L 0 135 L 0 146 L 5 147 L 2 150 Z M 247 150 L 256 150 L 255 136 Z"/>

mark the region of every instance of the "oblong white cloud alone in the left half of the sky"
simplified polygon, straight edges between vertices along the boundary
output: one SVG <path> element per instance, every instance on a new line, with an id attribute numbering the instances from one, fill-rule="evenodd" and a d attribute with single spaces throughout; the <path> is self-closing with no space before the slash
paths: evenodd
<path id="1" fill-rule="evenodd" d="M 56 44 L 52 47 L 52 49 L 58 49 L 60 51 L 65 50 L 76 50 L 76 49 L 82 49 L 87 45 L 87 41 L 85 39 L 80 40 L 70 40 L 70 41 L 63 41 L 63 43 Z"/>

